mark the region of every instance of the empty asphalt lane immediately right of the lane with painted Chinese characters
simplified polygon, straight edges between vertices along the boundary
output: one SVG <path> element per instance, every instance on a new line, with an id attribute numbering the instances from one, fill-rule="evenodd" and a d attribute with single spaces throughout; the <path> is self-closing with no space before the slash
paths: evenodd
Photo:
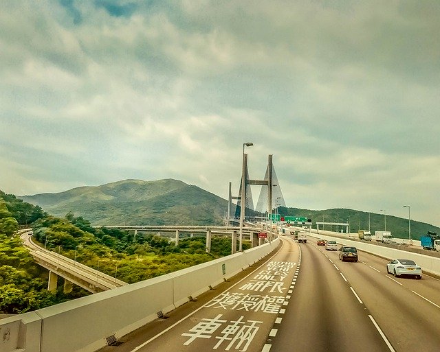
<path id="1" fill-rule="evenodd" d="M 334 253 L 313 242 L 300 249 L 297 285 L 270 351 L 392 351 L 340 274 Z"/>

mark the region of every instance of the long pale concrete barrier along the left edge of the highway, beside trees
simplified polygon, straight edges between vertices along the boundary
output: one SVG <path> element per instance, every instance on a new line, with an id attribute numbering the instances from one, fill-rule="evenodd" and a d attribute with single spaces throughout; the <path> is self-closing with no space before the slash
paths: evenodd
<path id="1" fill-rule="evenodd" d="M 0 320 L 0 352 L 92 352 L 210 290 L 279 239 L 192 268 Z"/>

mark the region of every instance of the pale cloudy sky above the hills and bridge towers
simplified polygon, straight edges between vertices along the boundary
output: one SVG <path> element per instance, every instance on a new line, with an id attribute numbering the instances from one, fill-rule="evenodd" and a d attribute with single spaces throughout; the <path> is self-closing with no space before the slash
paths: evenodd
<path id="1" fill-rule="evenodd" d="M 440 226 L 440 1 L 3 0 L 0 189 L 174 178 Z M 252 186 L 254 203 L 258 186 Z"/>

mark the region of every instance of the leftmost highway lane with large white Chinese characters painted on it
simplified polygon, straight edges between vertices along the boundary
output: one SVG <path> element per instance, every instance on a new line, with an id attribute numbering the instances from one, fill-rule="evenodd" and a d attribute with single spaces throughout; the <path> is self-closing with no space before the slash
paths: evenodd
<path id="1" fill-rule="evenodd" d="M 298 258 L 298 244 L 292 239 L 283 241 L 270 260 L 173 325 L 161 331 L 157 329 L 160 322 L 153 322 L 145 327 L 144 336 L 133 333 L 133 338 L 127 336 L 127 343 L 117 350 L 106 347 L 101 351 L 260 352 L 267 344 L 267 337 L 276 336 L 274 323 L 289 305 L 298 277 Z M 179 310 L 173 313 L 179 315 Z M 152 336 L 148 327 L 158 333 Z"/>

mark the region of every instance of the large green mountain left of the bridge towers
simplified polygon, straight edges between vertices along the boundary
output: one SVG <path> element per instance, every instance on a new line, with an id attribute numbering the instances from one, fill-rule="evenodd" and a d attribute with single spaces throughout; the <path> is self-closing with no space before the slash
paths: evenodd
<path id="1" fill-rule="evenodd" d="M 94 225 L 223 224 L 228 209 L 227 200 L 173 179 L 122 180 L 19 198 L 62 218 L 72 211 Z"/>

